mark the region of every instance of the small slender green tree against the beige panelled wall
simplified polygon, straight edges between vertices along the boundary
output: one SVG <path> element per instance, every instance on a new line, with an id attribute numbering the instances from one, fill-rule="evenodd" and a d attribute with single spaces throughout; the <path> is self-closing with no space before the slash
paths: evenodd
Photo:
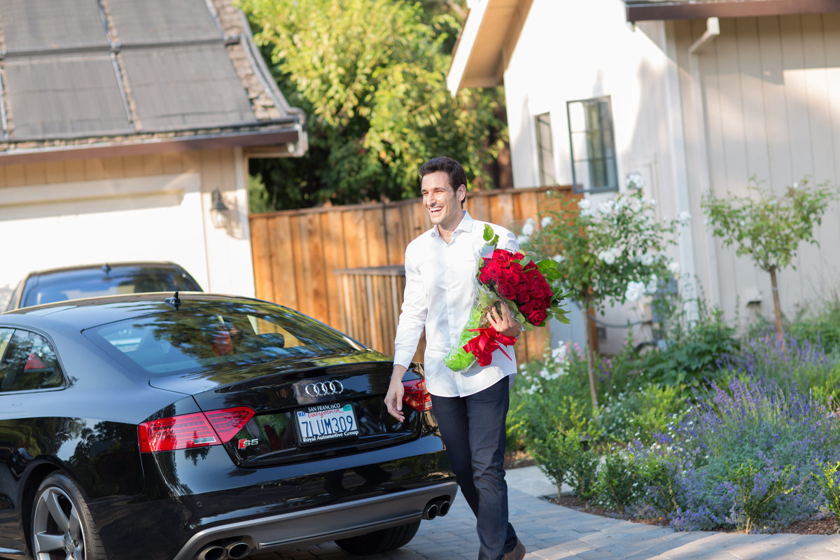
<path id="1" fill-rule="evenodd" d="M 709 191 L 703 196 L 701 207 L 709 218 L 712 233 L 722 238 L 725 247 L 735 244 L 735 254 L 748 255 L 769 273 L 776 336 L 783 342 L 776 273 L 788 266 L 796 269 L 792 262 L 801 242 L 819 244 L 814 238 L 814 226 L 822 222 L 828 203 L 837 198 L 837 188 L 823 183 L 810 189 L 807 181 L 801 181 L 777 195 L 759 188 L 754 177 L 750 181 L 754 197 L 717 198 Z"/>

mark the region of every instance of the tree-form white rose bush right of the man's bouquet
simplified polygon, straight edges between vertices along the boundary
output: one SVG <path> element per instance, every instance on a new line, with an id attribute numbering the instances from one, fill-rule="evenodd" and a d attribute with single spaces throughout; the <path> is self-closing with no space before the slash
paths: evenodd
<path id="1" fill-rule="evenodd" d="M 554 196 L 554 195 L 547 195 Z M 656 216 L 656 202 L 641 190 L 593 203 L 560 198 L 557 210 L 541 212 L 540 229 L 533 221 L 522 228 L 523 250 L 557 262 L 565 289 L 583 309 L 604 311 L 607 303 L 638 301 L 654 293 L 660 281 L 675 276 L 679 264 L 667 254 L 676 244 L 677 228 L 690 220 L 687 212 L 677 219 Z M 528 233 L 526 233 L 528 232 Z M 592 406 L 598 406 L 593 341 L 586 329 L 586 356 Z"/>

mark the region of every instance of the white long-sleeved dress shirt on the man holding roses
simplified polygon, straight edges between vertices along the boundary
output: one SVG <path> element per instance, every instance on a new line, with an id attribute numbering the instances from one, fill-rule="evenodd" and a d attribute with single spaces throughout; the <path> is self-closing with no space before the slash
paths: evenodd
<path id="1" fill-rule="evenodd" d="M 396 327 L 394 364 L 408 366 L 417 343 L 426 330 L 426 353 L 423 366 L 426 388 L 438 396 L 467 396 L 495 385 L 500 379 L 517 373 L 517 357 L 512 346 L 501 346 L 493 353 L 490 365 L 477 362 L 464 372 L 454 372 L 444 364 L 444 357 L 459 342 L 470 318 L 475 299 L 474 282 L 478 257 L 486 241 L 484 226 L 464 211 L 464 217 L 446 243 L 434 226 L 408 243 L 406 248 L 406 290 L 400 322 Z M 498 233 L 498 249 L 519 250 L 516 236 L 491 223 Z M 510 378 L 511 383 L 513 377 Z"/>

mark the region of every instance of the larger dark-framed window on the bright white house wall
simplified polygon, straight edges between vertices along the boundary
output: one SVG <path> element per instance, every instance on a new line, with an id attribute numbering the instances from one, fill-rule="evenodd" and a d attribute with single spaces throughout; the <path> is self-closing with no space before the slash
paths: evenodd
<path id="1" fill-rule="evenodd" d="M 575 192 L 618 190 L 610 97 L 566 102 Z"/>

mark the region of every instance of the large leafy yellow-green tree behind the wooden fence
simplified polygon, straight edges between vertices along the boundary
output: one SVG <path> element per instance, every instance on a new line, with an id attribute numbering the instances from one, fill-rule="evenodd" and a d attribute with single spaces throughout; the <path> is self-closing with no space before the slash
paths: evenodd
<path id="1" fill-rule="evenodd" d="M 291 105 L 307 113 L 302 158 L 253 160 L 277 208 L 417 196 L 431 157 L 459 160 L 474 187 L 504 143 L 501 92 L 445 85 L 460 28 L 451 3 L 240 0 Z"/>

